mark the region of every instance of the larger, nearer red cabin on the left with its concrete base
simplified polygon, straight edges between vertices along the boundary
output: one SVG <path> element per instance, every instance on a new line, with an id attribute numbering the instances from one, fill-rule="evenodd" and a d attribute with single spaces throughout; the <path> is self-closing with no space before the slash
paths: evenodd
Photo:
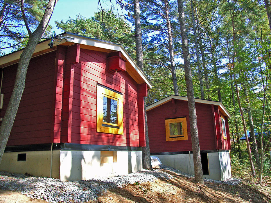
<path id="1" fill-rule="evenodd" d="M 119 44 L 68 32 L 50 40 L 30 60 L 0 170 L 61 180 L 140 171 L 150 81 Z M 21 52 L 0 58 L 1 117 Z"/>

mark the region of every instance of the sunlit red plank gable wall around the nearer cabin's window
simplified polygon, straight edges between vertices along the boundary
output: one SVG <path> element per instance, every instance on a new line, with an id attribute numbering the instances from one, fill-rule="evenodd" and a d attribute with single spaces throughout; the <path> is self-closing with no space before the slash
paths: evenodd
<path id="1" fill-rule="evenodd" d="M 74 65 L 71 142 L 139 146 L 138 85 L 126 71 L 108 71 L 107 56 L 104 52 L 80 49 L 80 62 Z M 123 135 L 96 132 L 97 82 L 123 94 Z M 64 114 L 68 110 L 65 104 Z"/>

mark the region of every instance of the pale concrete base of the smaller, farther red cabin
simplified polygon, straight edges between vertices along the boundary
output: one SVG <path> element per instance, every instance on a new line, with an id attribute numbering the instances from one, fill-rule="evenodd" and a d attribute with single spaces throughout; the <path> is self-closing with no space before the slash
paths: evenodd
<path id="1" fill-rule="evenodd" d="M 184 173 L 194 175 L 193 154 L 155 155 L 162 164 L 176 168 Z M 231 178 L 231 162 L 229 152 L 207 153 L 209 175 L 203 175 L 213 180 L 228 180 Z"/>

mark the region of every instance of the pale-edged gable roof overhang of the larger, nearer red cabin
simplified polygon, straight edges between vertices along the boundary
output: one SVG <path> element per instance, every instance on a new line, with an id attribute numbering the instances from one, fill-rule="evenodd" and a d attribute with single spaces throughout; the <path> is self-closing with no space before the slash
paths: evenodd
<path id="1" fill-rule="evenodd" d="M 138 84 L 142 84 L 146 82 L 146 84 L 148 85 L 148 88 L 152 87 L 152 84 L 150 83 L 146 75 L 144 75 L 142 70 L 140 70 L 140 68 L 137 66 L 134 60 L 130 57 L 128 52 L 120 44 L 112 43 L 109 41 L 103 41 L 99 39 L 94 39 L 91 37 L 85 37 L 85 36 L 73 34 L 70 32 L 64 32 L 60 35 L 69 37 L 69 39 L 62 39 L 58 44 L 54 44 L 53 48 L 49 48 L 48 46 L 48 42 L 51 41 L 51 38 L 41 41 L 37 44 L 32 57 L 36 57 L 44 53 L 54 51 L 56 50 L 56 47 L 58 45 L 71 46 L 73 44 L 80 44 L 80 48 L 107 52 L 107 53 L 110 53 L 112 51 L 120 51 L 122 58 L 129 62 L 126 68 L 127 73 Z M 10 54 L 0 57 L 0 68 L 4 68 L 6 66 L 10 66 L 12 64 L 18 63 L 22 52 L 23 52 L 23 49 L 20 49 L 20 50 L 17 50 L 15 52 L 12 52 Z"/>

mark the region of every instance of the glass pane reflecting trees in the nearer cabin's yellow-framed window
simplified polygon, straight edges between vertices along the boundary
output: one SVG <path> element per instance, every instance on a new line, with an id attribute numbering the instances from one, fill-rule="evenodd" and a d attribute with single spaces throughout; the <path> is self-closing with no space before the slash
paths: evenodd
<path id="1" fill-rule="evenodd" d="M 118 124 L 118 101 L 103 96 L 103 122 Z"/>

